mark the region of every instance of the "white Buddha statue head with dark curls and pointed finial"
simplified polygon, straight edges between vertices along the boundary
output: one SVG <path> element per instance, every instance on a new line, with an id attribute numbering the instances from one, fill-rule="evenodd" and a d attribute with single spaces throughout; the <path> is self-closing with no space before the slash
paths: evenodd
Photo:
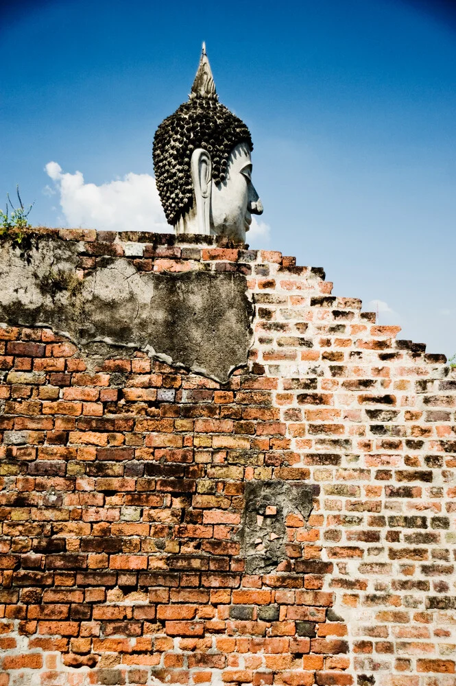
<path id="1" fill-rule="evenodd" d="M 154 137 L 157 189 L 177 233 L 245 241 L 252 214 L 263 212 L 252 185 L 252 150 L 245 123 L 219 103 L 203 43 L 188 102 Z"/>

